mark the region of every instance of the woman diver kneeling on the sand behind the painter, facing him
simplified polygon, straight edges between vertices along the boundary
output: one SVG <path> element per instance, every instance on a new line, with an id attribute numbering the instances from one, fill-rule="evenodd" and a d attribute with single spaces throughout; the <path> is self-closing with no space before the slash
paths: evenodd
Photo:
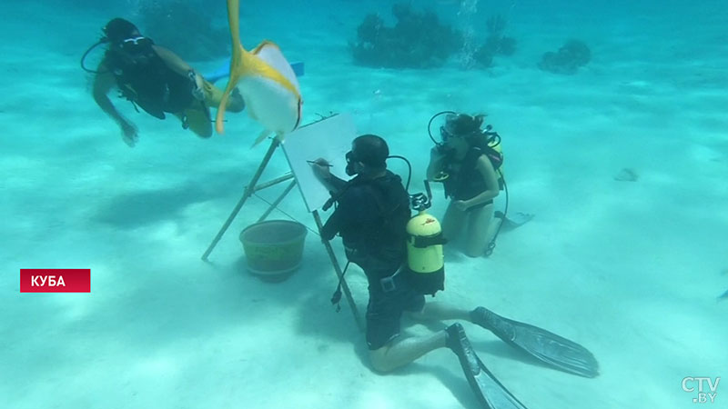
<path id="1" fill-rule="evenodd" d="M 532 214 L 507 217 L 508 187 L 503 176 L 501 136 L 490 125 L 481 129 L 485 115 L 441 112 L 430 119 L 445 116 L 440 127 L 442 142 L 430 138 L 427 178 L 441 182 L 450 204 L 442 220 L 443 235 L 451 242 L 464 241 L 464 253 L 470 257 L 490 255 L 501 230 L 513 229 L 531 220 Z M 506 212 L 493 212 L 493 199 L 506 190 Z"/>

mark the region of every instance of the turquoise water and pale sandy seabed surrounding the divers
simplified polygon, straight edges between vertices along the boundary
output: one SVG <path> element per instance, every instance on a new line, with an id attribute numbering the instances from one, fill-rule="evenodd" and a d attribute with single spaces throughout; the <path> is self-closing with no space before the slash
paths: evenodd
<path id="1" fill-rule="evenodd" d="M 226 9 L 211 3 L 154 20 L 149 10 L 179 5 L 6 2 L 0 406 L 478 407 L 444 349 L 396 374 L 371 370 L 349 307 L 336 314 L 329 304 L 336 276 L 316 234 L 287 281 L 246 272 L 238 233 L 283 185 L 248 200 L 209 263 L 200 260 L 266 152 L 265 143 L 249 147 L 260 126 L 248 115 L 227 114 L 226 135 L 203 140 L 114 97 L 139 129 L 129 148 L 94 103 L 78 62 L 115 16 L 156 31 L 160 45 L 178 42 L 174 51 L 202 73 L 224 65 Z M 587 346 L 602 367 L 594 379 L 553 371 L 467 325 L 521 402 L 693 407 L 698 392 L 683 391 L 683 379 L 728 367 L 728 301 L 717 299 L 728 289 L 724 2 L 411 3 L 466 34 L 444 64 L 354 63 L 349 41 L 365 15 L 394 24 L 389 1 L 243 1 L 241 38 L 248 48 L 273 40 L 289 61 L 305 62 L 303 122 L 349 113 L 360 133 L 384 136 L 410 159 L 413 191 L 429 159 L 430 116 L 489 114 L 503 137 L 511 209 L 536 217 L 502 234 L 488 259 L 449 252 L 437 299 L 548 328 Z M 494 14 L 506 18 L 515 53 L 472 65 Z M 586 65 L 574 75 L 539 69 L 571 38 L 589 46 Z M 624 169 L 636 180 L 616 180 Z M 277 153 L 263 179 L 287 170 Z M 434 195 L 431 212 L 441 216 L 439 186 Z M 278 208 L 269 218 L 316 231 L 298 191 Z M 334 248 L 343 260 L 339 241 Z M 20 294 L 22 268 L 89 268 L 91 292 Z M 361 312 L 366 281 L 355 267 L 347 277 Z M 414 324 L 407 334 L 442 327 Z M 728 402 L 726 388 L 718 385 L 712 407 Z"/>

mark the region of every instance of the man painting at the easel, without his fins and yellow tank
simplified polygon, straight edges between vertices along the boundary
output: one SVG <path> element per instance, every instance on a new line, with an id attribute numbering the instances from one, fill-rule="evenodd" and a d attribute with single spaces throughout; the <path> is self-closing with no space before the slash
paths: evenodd
<path id="1" fill-rule="evenodd" d="M 372 366 L 379 372 L 392 371 L 446 346 L 446 331 L 400 338 L 403 313 L 415 319 L 469 319 L 465 310 L 436 303 L 426 307 L 424 295 L 411 287 L 406 274 L 397 274 L 407 257 L 405 227 L 410 219 L 410 200 L 399 176 L 387 170 L 388 156 L 384 139 L 362 135 L 347 154 L 347 174 L 356 175 L 349 182 L 331 175 L 324 159 L 313 165 L 338 203 L 321 237 L 331 240 L 340 234 L 347 258 L 364 270 L 369 281 L 366 336 Z"/>

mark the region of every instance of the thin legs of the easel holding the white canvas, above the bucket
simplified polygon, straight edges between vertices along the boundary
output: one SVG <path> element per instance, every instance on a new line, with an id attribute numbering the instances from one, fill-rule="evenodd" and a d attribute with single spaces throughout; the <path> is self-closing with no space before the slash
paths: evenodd
<path id="1" fill-rule="evenodd" d="M 326 118 L 321 118 L 321 120 Z M 319 122 L 319 121 L 316 121 Z M 303 125 L 313 125 L 316 124 L 316 122 Z M 266 212 L 264 212 L 259 218 L 258 222 L 262 222 L 263 220 L 268 217 L 268 214 L 273 212 L 273 210 L 280 204 L 280 202 L 283 201 L 283 199 L 288 195 L 288 192 L 293 189 L 294 186 L 296 186 L 296 179 L 293 175 L 293 172 L 288 172 L 285 175 L 279 176 L 275 179 L 272 179 L 268 182 L 261 183 L 258 185 L 258 180 L 260 179 L 260 176 L 263 175 L 263 171 L 265 171 L 266 166 L 268 166 L 268 162 L 270 161 L 270 158 L 273 156 L 273 154 L 276 152 L 276 149 L 278 148 L 278 145 L 280 145 L 280 141 L 278 141 L 278 138 L 273 138 L 273 142 L 271 142 L 270 146 L 268 147 L 268 152 L 266 152 L 266 155 L 263 157 L 263 160 L 260 162 L 260 165 L 258 166 L 258 170 L 256 171 L 255 175 L 250 179 L 250 183 L 245 187 L 245 192 L 243 192 L 243 195 L 240 197 L 240 200 L 238 200 L 238 205 L 235 205 L 235 208 L 230 213 L 229 216 L 227 216 L 227 220 L 222 225 L 220 230 L 217 232 L 217 235 L 212 240 L 212 242 L 207 246 L 207 250 L 205 251 L 205 254 L 202 254 L 202 260 L 207 262 L 207 257 L 212 253 L 212 250 L 215 249 L 215 246 L 217 245 L 217 242 L 220 241 L 223 234 L 227 231 L 227 228 L 230 226 L 230 224 L 233 223 L 233 220 L 238 216 L 238 213 L 240 212 L 240 209 L 245 205 L 246 201 L 248 201 L 248 197 L 252 196 L 259 190 L 266 189 L 273 185 L 278 185 L 279 183 L 285 182 L 287 180 L 293 179 L 288 186 L 286 186 L 286 189 L 283 191 L 283 193 L 278 196 L 278 198 L 268 206 L 268 209 Z M 313 219 L 316 222 L 316 226 L 319 229 L 319 235 L 321 232 L 321 229 L 323 228 L 323 224 L 321 223 L 321 217 L 319 216 L 319 211 L 314 210 L 311 212 L 313 215 Z M 341 271 L 341 267 L 339 265 L 339 261 L 336 258 L 336 254 L 334 254 L 334 250 L 331 247 L 331 243 L 329 243 L 328 240 L 322 240 L 321 243 L 324 244 L 324 247 L 326 248 L 327 254 L 329 254 L 329 260 L 331 261 L 331 264 L 334 266 L 334 271 L 337 274 L 337 277 L 340 280 L 341 288 L 344 291 L 344 294 L 347 297 L 347 301 L 349 302 L 349 307 L 351 307 L 351 313 L 354 314 L 354 320 L 357 322 L 357 326 L 359 327 L 359 331 L 364 331 L 364 323 L 361 320 L 361 315 L 359 314 L 359 310 L 357 309 L 357 304 L 354 303 L 354 298 L 351 296 L 351 292 L 349 291 L 349 284 L 347 284 L 346 280 L 344 279 L 344 274 Z"/>

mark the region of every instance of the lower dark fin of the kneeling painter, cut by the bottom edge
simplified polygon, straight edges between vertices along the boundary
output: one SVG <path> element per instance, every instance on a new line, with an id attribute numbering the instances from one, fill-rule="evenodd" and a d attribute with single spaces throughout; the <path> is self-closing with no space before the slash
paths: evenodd
<path id="1" fill-rule="evenodd" d="M 447 346 L 458 355 L 462 372 L 484 409 L 528 409 L 480 361 L 462 325 L 452 324 L 445 331 L 448 333 Z"/>

